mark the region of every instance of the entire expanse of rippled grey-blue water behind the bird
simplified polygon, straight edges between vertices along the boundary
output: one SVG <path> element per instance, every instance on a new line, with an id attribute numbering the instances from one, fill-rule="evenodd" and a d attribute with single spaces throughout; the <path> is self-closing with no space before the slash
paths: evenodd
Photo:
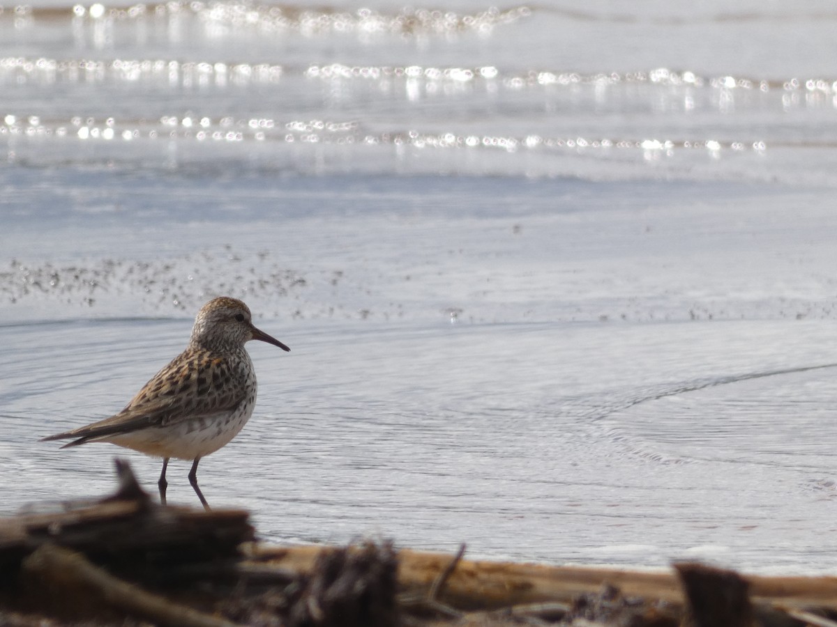
<path id="1" fill-rule="evenodd" d="M 226 293 L 292 352 L 201 483 L 272 542 L 833 572 L 835 18 L 5 8 L 2 511 L 153 490 L 37 439 Z"/>

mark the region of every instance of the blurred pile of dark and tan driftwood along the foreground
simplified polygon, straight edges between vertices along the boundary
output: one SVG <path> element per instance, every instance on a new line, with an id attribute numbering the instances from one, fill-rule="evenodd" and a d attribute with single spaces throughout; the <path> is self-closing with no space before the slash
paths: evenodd
<path id="1" fill-rule="evenodd" d="M 266 548 L 247 512 L 163 507 L 117 468 L 112 497 L 0 519 L 0 625 L 837 627 L 837 578 Z"/>

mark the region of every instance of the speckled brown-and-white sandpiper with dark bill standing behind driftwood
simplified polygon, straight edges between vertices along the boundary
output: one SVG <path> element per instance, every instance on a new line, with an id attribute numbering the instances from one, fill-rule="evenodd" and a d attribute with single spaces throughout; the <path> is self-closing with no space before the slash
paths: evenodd
<path id="1" fill-rule="evenodd" d="M 256 375 L 244 344 L 258 339 L 290 351 L 278 339 L 256 329 L 252 314 L 238 298 L 213 298 L 198 311 L 186 349 L 136 393 L 116 415 L 47 436 L 41 441 L 109 442 L 162 457 L 157 481 L 166 504 L 166 469 L 174 457 L 192 461 L 189 483 L 203 507 L 198 462 L 232 440 L 253 415 Z"/>

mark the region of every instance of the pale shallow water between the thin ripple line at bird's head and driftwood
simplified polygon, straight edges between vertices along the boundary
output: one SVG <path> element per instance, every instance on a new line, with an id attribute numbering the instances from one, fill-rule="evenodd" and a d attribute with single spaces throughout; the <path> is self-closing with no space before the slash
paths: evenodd
<path id="1" fill-rule="evenodd" d="M 294 350 L 251 349 L 259 408 L 200 478 L 216 507 L 251 508 L 265 538 L 372 533 L 430 549 L 465 540 L 495 558 L 830 568 L 834 364 L 798 370 L 826 363 L 833 325 L 262 326 Z M 58 452 L 33 439 L 119 409 L 187 328 L 4 328 L 13 354 L 53 359 L 3 371 L 25 390 L 3 396 L 7 503 L 110 490 L 110 446 Z M 83 367 L 68 375 L 80 346 Z M 131 461 L 153 489 L 159 461 Z M 187 467 L 172 463 L 175 502 L 195 501 Z"/>

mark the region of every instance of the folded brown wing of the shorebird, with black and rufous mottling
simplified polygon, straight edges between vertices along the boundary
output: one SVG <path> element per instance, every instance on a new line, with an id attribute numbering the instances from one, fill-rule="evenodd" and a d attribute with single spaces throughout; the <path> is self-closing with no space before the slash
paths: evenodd
<path id="1" fill-rule="evenodd" d="M 44 441 L 78 438 L 66 446 L 96 438 L 168 426 L 232 410 L 244 400 L 243 376 L 229 360 L 206 352 L 185 351 L 160 370 L 124 410 L 105 420 L 45 437 Z"/>

